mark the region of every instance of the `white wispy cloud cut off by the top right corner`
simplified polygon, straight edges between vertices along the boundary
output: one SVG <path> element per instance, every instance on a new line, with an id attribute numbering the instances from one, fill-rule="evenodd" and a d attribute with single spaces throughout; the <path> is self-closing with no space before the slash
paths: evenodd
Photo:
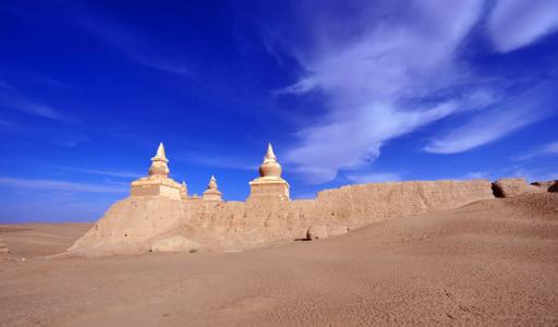
<path id="1" fill-rule="evenodd" d="M 558 28 L 556 0 L 499 0 L 488 17 L 488 32 L 498 51 L 527 46 Z"/>

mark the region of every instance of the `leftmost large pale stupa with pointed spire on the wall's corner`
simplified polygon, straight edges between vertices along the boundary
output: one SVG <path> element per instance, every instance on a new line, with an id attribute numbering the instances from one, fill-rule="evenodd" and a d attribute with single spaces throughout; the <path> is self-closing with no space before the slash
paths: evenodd
<path id="1" fill-rule="evenodd" d="M 169 178 L 169 159 L 162 142 L 151 158 L 148 175 L 132 182 L 131 196 L 166 196 L 181 199 L 182 185 Z"/>

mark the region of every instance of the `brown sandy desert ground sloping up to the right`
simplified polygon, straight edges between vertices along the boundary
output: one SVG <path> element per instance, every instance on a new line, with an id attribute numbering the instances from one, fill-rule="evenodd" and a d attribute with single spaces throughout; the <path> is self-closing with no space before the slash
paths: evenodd
<path id="1" fill-rule="evenodd" d="M 558 324 L 558 194 L 241 253 L 43 257 L 89 226 L 0 226 L 1 325 Z"/>

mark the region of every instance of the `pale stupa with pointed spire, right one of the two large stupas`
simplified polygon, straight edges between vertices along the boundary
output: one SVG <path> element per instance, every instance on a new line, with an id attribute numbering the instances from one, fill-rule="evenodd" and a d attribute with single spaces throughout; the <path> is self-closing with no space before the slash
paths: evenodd
<path id="1" fill-rule="evenodd" d="M 282 168 L 277 162 L 274 147 L 269 143 L 264 162 L 259 166 L 259 178 L 250 182 L 250 201 L 289 201 L 289 183 L 281 178 Z"/>

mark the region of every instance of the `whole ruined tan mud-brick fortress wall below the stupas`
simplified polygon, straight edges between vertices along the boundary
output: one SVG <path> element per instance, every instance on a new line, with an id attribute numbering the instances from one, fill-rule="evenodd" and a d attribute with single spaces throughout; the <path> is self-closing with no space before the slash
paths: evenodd
<path id="1" fill-rule="evenodd" d="M 114 204 L 71 252 L 146 252 L 157 240 L 177 235 L 205 249 L 243 250 L 305 238 L 314 225 L 353 229 L 493 197 L 486 180 L 349 185 L 319 192 L 316 199 L 291 202 L 128 197 Z"/>

